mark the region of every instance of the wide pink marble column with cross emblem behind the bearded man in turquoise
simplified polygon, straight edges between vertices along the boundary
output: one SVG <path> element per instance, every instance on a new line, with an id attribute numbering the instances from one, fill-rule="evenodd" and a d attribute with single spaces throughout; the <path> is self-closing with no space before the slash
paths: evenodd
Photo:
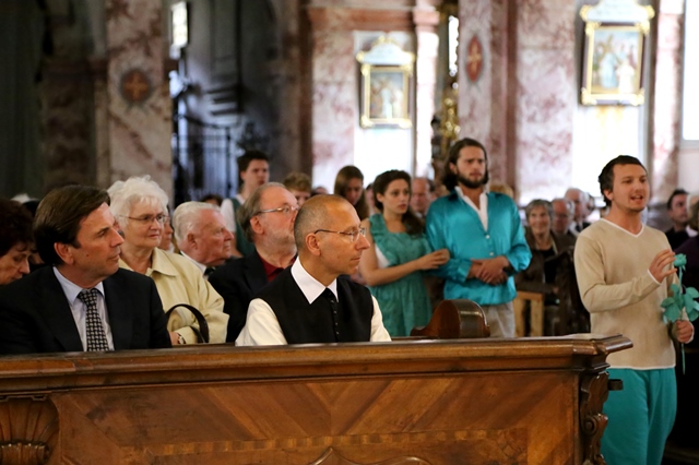
<path id="1" fill-rule="evenodd" d="M 490 179 L 521 203 L 560 194 L 572 169 L 576 2 L 478 0 L 459 15 L 460 135 L 485 144 Z"/>

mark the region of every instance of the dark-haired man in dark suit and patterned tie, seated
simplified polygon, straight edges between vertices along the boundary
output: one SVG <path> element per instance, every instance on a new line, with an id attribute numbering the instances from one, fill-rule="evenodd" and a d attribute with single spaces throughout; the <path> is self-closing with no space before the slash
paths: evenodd
<path id="1" fill-rule="evenodd" d="M 0 289 L 0 354 L 170 347 L 155 284 L 119 269 L 123 239 L 103 190 L 68 186 L 36 212 L 34 235 L 51 266 Z"/>

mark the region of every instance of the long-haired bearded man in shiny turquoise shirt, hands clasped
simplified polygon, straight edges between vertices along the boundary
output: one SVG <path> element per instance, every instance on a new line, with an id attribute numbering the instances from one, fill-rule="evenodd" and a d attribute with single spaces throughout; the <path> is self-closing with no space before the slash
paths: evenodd
<path id="1" fill-rule="evenodd" d="M 450 194 L 427 212 L 433 250 L 449 249 L 451 259 L 435 273 L 446 279 L 446 299 L 471 299 L 486 313 L 494 337 L 514 336 L 514 274 L 532 253 L 517 205 L 487 192 L 488 158 L 483 144 L 462 139 L 449 150 L 443 184 Z"/>

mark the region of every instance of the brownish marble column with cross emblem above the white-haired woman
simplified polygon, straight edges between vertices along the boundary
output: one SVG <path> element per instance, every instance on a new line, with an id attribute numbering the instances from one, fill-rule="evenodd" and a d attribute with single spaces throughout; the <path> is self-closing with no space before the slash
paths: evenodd
<path id="1" fill-rule="evenodd" d="M 164 70 L 166 39 L 161 0 L 107 0 L 107 98 L 98 126 L 98 171 L 114 182 L 150 175 L 168 194 L 171 99 Z M 99 121 L 98 121 L 99 122 Z M 103 143 L 100 144 L 99 141 Z"/>

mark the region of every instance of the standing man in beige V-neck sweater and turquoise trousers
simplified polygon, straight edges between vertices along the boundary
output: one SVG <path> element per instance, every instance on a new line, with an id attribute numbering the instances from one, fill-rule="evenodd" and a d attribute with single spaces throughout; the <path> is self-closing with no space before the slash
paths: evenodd
<path id="1" fill-rule="evenodd" d="M 609 213 L 578 237 L 576 271 L 594 334 L 624 334 L 633 347 L 609 354 L 609 392 L 602 454 L 609 464 L 656 464 L 677 410 L 672 338 L 689 343 L 689 321 L 668 323 L 662 302 L 677 283 L 675 254 L 665 235 L 642 223 L 650 199 L 648 172 L 638 158 L 620 155 L 602 169 L 600 190 Z M 672 337 L 672 338 L 671 338 Z"/>

